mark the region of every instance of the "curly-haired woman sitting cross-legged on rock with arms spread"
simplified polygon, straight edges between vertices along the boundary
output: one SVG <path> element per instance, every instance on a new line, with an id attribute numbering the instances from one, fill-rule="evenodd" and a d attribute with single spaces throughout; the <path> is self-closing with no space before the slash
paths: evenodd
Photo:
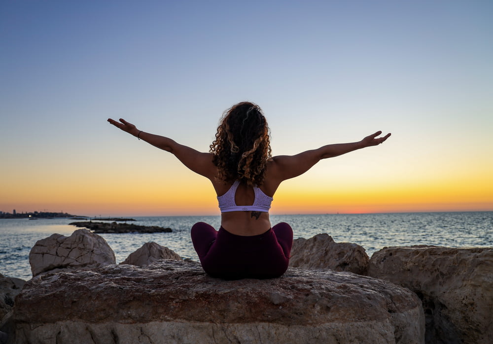
<path id="1" fill-rule="evenodd" d="M 227 110 L 209 153 L 143 132 L 120 119 L 108 122 L 173 153 L 186 167 L 211 180 L 221 210 L 218 231 L 204 222 L 191 230 L 204 270 L 222 278 L 271 278 L 284 274 L 293 231 L 287 223 L 271 226 L 269 208 L 283 180 L 307 172 L 318 161 L 375 146 L 390 134 L 377 132 L 361 141 L 329 144 L 292 156 L 271 156 L 269 127 L 260 107 L 243 102 Z"/>

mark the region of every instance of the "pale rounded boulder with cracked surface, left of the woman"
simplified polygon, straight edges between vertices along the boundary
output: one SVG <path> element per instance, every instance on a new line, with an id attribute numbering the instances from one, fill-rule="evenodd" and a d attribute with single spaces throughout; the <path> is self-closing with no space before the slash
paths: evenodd
<path id="1" fill-rule="evenodd" d="M 33 276 L 115 264 L 115 254 L 103 237 L 79 229 L 70 237 L 52 234 L 41 239 L 29 253 Z"/>

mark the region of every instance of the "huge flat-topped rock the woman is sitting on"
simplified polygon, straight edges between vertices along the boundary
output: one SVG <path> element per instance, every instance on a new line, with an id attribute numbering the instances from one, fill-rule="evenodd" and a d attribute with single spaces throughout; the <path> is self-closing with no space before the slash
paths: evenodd
<path id="1" fill-rule="evenodd" d="M 423 343 L 419 298 L 387 281 L 289 268 L 222 280 L 162 260 L 39 275 L 17 297 L 20 343 Z"/>

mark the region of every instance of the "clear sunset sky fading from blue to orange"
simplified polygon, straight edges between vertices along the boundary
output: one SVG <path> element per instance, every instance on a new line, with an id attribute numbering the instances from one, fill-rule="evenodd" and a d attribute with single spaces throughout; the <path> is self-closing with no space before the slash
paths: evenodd
<path id="1" fill-rule="evenodd" d="M 106 122 L 208 151 L 262 107 L 273 155 L 382 145 L 271 213 L 493 210 L 493 2 L 0 1 L 0 211 L 219 214 L 211 182 Z"/>

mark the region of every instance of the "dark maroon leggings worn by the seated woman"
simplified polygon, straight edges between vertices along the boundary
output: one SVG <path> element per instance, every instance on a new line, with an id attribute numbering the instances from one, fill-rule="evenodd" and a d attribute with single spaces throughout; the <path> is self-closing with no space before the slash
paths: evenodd
<path id="1" fill-rule="evenodd" d="M 216 231 L 198 222 L 191 231 L 193 247 L 204 271 L 225 279 L 273 278 L 286 272 L 293 244 L 293 230 L 285 222 L 251 237 Z"/>

